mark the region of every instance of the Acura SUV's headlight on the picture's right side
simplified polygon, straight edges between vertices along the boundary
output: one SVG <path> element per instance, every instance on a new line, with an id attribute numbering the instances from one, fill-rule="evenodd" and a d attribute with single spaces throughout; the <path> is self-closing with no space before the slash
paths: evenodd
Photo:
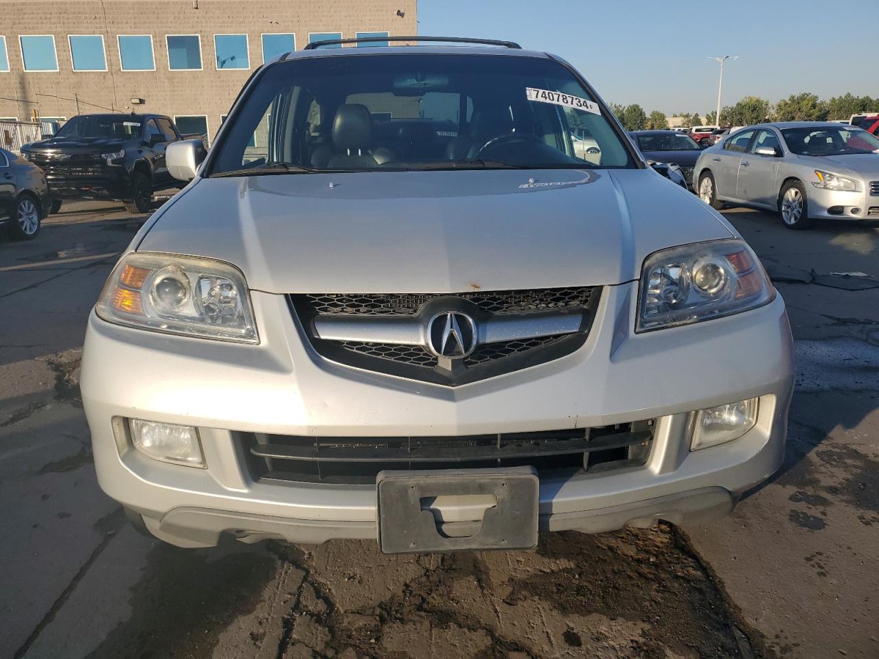
<path id="1" fill-rule="evenodd" d="M 636 331 L 737 314 L 774 296 L 763 266 L 743 241 L 657 251 L 644 261 Z"/>

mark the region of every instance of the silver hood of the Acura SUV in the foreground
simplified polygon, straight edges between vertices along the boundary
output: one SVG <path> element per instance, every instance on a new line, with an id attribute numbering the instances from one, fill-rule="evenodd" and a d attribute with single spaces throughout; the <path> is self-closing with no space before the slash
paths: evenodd
<path id="1" fill-rule="evenodd" d="M 655 250 L 732 235 L 652 170 L 203 178 L 138 250 L 236 264 L 269 293 L 460 293 L 637 279 Z"/>

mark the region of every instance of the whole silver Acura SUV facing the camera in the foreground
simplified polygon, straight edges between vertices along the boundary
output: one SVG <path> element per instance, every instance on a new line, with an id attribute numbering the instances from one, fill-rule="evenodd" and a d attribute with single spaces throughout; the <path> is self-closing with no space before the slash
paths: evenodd
<path id="1" fill-rule="evenodd" d="M 142 531 L 534 547 L 723 515 L 781 465 L 792 340 L 751 248 L 569 64 L 437 40 L 280 55 L 207 156 L 168 148 L 191 183 L 113 269 L 81 375 Z"/>

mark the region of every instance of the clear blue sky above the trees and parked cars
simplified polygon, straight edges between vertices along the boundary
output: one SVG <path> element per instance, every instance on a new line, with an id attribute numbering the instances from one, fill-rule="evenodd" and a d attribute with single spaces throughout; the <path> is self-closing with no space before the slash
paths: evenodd
<path id="1" fill-rule="evenodd" d="M 714 110 L 753 94 L 771 102 L 811 91 L 879 96 L 875 21 L 867 3 L 817 0 L 418 0 L 418 33 L 518 41 L 558 54 L 607 103 Z"/>

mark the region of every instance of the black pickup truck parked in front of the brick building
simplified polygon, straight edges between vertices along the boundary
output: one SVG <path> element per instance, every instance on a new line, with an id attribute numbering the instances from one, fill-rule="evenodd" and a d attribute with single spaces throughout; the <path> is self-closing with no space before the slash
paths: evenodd
<path id="1" fill-rule="evenodd" d="M 161 114 L 80 114 L 21 153 L 46 172 L 52 212 L 62 199 L 114 199 L 129 213 L 147 213 L 153 192 L 176 185 L 165 148 L 183 139 Z"/>

